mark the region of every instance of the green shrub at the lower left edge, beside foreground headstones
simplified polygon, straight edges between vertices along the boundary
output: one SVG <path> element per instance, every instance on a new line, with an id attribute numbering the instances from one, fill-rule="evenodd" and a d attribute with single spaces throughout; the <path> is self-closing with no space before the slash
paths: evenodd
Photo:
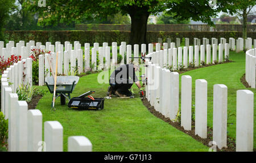
<path id="1" fill-rule="evenodd" d="M 5 120 L 5 115 L 0 112 L 0 151 L 6 151 L 8 139 L 8 120 Z"/>

